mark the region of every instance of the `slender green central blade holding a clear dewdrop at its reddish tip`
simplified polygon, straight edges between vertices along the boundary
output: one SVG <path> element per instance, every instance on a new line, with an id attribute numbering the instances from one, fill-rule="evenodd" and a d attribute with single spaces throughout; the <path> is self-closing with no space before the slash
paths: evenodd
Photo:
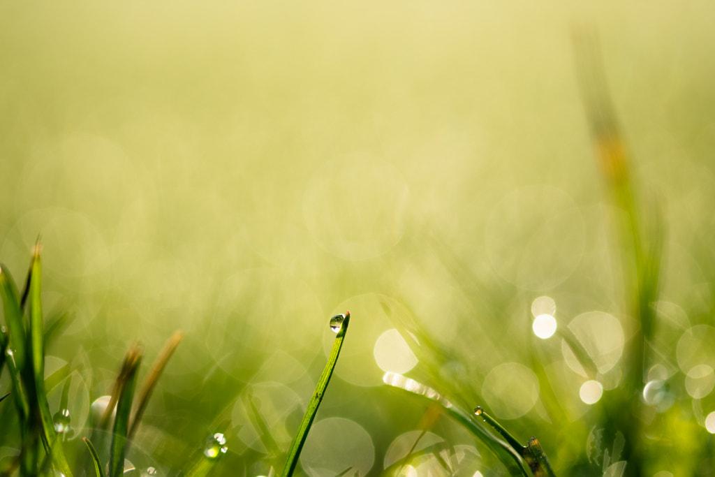
<path id="1" fill-rule="evenodd" d="M 330 351 L 330 357 L 327 358 L 327 364 L 325 369 L 320 375 L 320 379 L 317 381 L 315 386 L 315 393 L 313 393 L 310 403 L 305 410 L 305 415 L 303 415 L 303 420 L 300 422 L 300 427 L 298 428 L 298 433 L 295 436 L 295 440 L 290 446 L 290 451 L 288 453 L 288 460 L 283 468 L 283 477 L 292 476 L 293 471 L 295 471 L 295 466 L 298 463 L 298 456 L 300 456 L 300 451 L 305 444 L 305 439 L 308 436 L 308 431 L 310 431 L 310 426 L 312 426 L 312 421 L 315 419 L 315 414 L 317 413 L 317 408 L 320 406 L 320 401 L 322 401 L 323 395 L 325 395 L 325 389 L 327 388 L 327 383 L 330 382 L 330 377 L 332 376 L 332 371 L 335 369 L 337 364 L 337 357 L 340 355 L 340 348 L 342 348 L 342 342 L 345 340 L 345 333 L 347 333 L 347 325 L 350 323 L 350 312 L 345 312 L 344 315 L 335 315 L 330 318 L 330 329 L 337 333 L 335 341 L 332 343 L 332 350 Z"/>

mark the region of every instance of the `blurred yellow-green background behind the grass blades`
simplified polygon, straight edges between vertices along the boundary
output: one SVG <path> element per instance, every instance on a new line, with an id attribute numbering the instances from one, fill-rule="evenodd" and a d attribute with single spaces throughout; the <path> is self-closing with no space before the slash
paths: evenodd
<path id="1" fill-rule="evenodd" d="M 350 310 L 302 455 L 311 476 L 378 475 L 424 426 L 424 402 L 382 384 L 414 364 L 395 319 L 445 351 L 418 350 L 415 375 L 538 436 L 557 473 L 616 465 L 583 370 L 531 328 L 553 315 L 598 365 L 604 399 L 618 393 L 634 325 L 578 90 L 584 24 L 639 197 L 663 207 L 651 345 L 665 385 L 639 419 L 663 451 L 649 475 L 686 475 L 671 458 L 712 449 L 715 431 L 706 1 L 2 2 L 0 260 L 21 277 L 41 235 L 46 315 L 72 317 L 48 362 L 82 370 L 74 441 L 127 347 L 149 361 L 181 329 L 129 460 L 176 475 L 224 432 L 217 473 L 280 471 L 328 319 Z M 458 475 L 501 475 L 445 418 L 430 433 Z M 435 466 L 428 453 L 401 475 Z"/>

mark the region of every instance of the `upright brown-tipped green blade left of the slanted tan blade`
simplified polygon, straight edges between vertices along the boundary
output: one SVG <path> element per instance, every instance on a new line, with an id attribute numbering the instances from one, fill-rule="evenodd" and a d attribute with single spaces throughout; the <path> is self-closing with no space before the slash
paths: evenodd
<path id="1" fill-rule="evenodd" d="M 112 430 L 112 446 L 109 453 L 109 477 L 121 476 L 124 473 L 124 453 L 127 451 L 127 433 L 129 417 L 132 412 L 134 385 L 137 383 L 137 370 L 142 363 L 142 348 L 138 345 L 129 348 L 124 358 L 122 370 L 117 378 L 119 398 L 117 402 L 117 417 L 114 418 Z M 111 409 L 110 411 L 111 412 Z"/>

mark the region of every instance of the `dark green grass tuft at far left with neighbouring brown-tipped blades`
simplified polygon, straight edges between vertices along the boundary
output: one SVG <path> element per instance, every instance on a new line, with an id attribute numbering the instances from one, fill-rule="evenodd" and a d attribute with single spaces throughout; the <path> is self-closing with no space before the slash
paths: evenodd
<path id="1" fill-rule="evenodd" d="M 61 420 L 69 418 L 69 415 L 63 414 L 63 410 L 60 410 L 57 416 L 53 416 L 46 393 L 45 338 L 48 332 L 56 329 L 58 322 L 54 322 L 49 330 L 45 328 L 41 303 L 40 251 L 38 241 L 32 252 L 31 265 L 22 292 L 19 292 L 6 267 L 0 265 L 0 298 L 5 320 L 3 333 L 0 333 L 2 351 L 0 372 L 3 365 L 6 365 L 12 385 L 11 391 L 4 394 L 0 401 L 9 395 L 13 396 L 20 434 L 19 453 L 11 460 L 9 466 L 0 469 L 0 475 L 10 476 L 15 471 L 19 471 L 21 477 L 48 475 L 54 469 L 65 477 L 72 477 L 73 468 L 77 470 L 81 465 L 75 463 L 77 465 L 71 466 L 63 448 L 62 433 L 66 431 L 66 426 Z M 134 388 L 139 365 L 142 363 L 143 350 L 139 345 L 133 345 L 124 358 L 104 416 L 92 428 L 92 433 L 107 428 L 116 405 L 106 474 L 109 477 L 121 476 L 124 473 L 124 456 L 132 436 L 139 426 L 159 376 L 181 339 L 181 333 L 175 333 L 157 358 L 144 382 L 142 392 L 139 393 L 139 404 L 134 413 L 132 413 Z M 61 373 L 68 372 L 67 367 L 61 370 Z M 64 377 L 66 376 L 59 376 L 59 379 Z M 52 378 L 58 379 L 56 376 Z M 69 380 L 66 381 L 62 391 L 61 405 L 66 406 L 68 393 Z M 97 477 L 104 477 L 105 467 L 97 447 L 92 443 L 94 439 L 84 437 L 83 440 L 87 444 L 94 473 Z M 97 438 L 97 441 L 102 442 L 103 439 Z"/>

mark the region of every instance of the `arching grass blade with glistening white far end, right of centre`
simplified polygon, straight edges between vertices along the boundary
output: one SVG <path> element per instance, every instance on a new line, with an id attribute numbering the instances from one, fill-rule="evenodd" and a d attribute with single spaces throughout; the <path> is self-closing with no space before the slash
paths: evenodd
<path id="1" fill-rule="evenodd" d="M 445 410 L 445 413 L 450 415 L 451 418 L 460 423 L 478 438 L 481 443 L 487 446 L 499 461 L 503 463 L 512 476 L 528 476 L 522 465 L 521 453 L 516 451 L 513 446 L 510 446 L 501 439 L 495 438 L 495 436 L 485 431 L 481 426 L 475 423 L 470 416 L 458 408 L 455 408 L 450 401 L 443 398 L 436 390 L 397 373 L 385 373 L 383 382 L 393 388 L 409 391 L 410 393 L 423 396 L 423 398 L 440 404 Z"/>

